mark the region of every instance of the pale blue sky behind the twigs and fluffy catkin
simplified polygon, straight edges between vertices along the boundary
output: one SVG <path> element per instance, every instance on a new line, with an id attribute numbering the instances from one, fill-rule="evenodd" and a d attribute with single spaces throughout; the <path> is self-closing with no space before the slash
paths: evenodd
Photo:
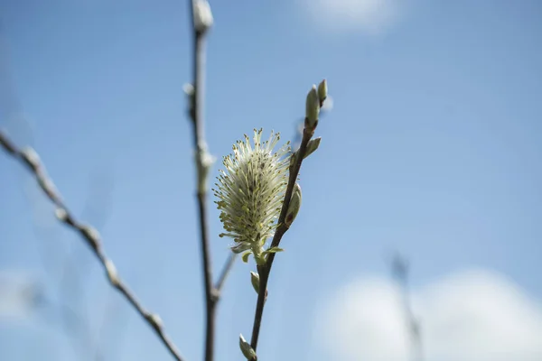
<path id="1" fill-rule="evenodd" d="M 331 359 L 313 337 L 316 305 L 363 274 L 387 276 L 393 250 L 411 260 L 415 288 L 479 267 L 542 299 L 542 5 L 329 4 L 211 2 L 211 153 L 220 159 L 255 127 L 293 138 L 305 94 L 323 78 L 334 99 L 273 269 L 260 358 Z M 203 310 L 182 93 L 191 79 L 187 11 L 169 0 L 1 2 L 0 126 L 33 144 L 70 208 L 96 223 L 126 282 L 196 360 Z M 0 174 L 0 270 L 36 275 L 52 291 L 70 249 L 92 328 L 110 305 L 111 323 L 125 324 L 107 337 L 119 343 L 111 359 L 169 359 L 79 238 L 54 223 L 20 165 L 0 156 Z M 218 272 L 229 243 L 211 200 Z M 220 302 L 219 360 L 238 359 L 238 334 L 250 333 L 253 268 L 236 265 Z M 0 322 L 0 350 L 9 360 L 74 357 L 39 315 Z"/>

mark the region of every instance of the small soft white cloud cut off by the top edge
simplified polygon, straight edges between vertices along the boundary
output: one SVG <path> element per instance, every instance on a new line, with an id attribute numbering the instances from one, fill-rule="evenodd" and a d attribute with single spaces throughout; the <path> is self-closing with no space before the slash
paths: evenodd
<path id="1" fill-rule="evenodd" d="M 377 35 L 397 22 L 401 0 L 300 0 L 302 9 L 327 30 Z M 404 2 L 404 0 L 403 0 Z"/>

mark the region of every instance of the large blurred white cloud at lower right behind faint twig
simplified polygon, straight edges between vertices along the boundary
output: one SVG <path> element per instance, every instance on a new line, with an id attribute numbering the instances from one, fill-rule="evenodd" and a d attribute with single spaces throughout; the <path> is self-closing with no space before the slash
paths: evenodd
<path id="1" fill-rule="evenodd" d="M 457 273 L 413 295 L 427 361 L 540 361 L 542 307 L 488 271 Z M 343 361 L 408 361 L 397 288 L 350 282 L 318 310 L 315 337 Z"/>

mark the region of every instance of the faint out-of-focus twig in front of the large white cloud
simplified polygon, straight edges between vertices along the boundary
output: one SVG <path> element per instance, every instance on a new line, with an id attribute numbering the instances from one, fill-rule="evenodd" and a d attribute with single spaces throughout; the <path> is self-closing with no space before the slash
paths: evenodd
<path id="1" fill-rule="evenodd" d="M 408 288 L 408 261 L 399 254 L 394 255 L 391 261 L 391 272 L 401 291 L 401 299 L 403 304 L 403 312 L 406 318 L 406 326 L 412 345 L 412 360 L 423 361 L 422 338 L 420 335 L 420 325 L 410 305 L 409 288 Z"/>

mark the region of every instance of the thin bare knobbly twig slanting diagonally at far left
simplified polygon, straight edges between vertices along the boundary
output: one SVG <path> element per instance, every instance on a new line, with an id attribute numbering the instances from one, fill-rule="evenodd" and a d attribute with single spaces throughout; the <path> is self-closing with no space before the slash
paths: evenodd
<path id="1" fill-rule="evenodd" d="M 164 346 L 167 347 L 169 352 L 177 361 L 183 361 L 183 358 L 180 352 L 177 350 L 177 347 L 173 345 L 173 342 L 166 335 L 164 331 L 164 326 L 162 325 L 162 320 L 160 317 L 152 313 L 141 305 L 140 301 L 137 300 L 135 294 L 131 292 L 126 284 L 122 282 L 121 278 L 117 274 L 117 270 L 113 261 L 107 258 L 106 253 L 104 252 L 98 231 L 93 227 L 89 227 L 79 223 L 73 216 L 70 214 L 68 208 L 64 205 L 64 202 L 61 200 L 59 192 L 55 189 L 52 180 L 47 176 L 44 166 L 40 161 L 40 158 L 37 153 L 33 151 L 32 148 L 26 148 L 24 150 L 19 150 L 14 143 L 12 143 L 6 134 L 0 130 L 0 145 L 4 148 L 5 152 L 14 157 L 14 159 L 22 162 L 27 168 L 32 171 L 33 176 L 37 180 L 40 188 L 47 195 L 51 202 L 57 207 L 57 218 L 72 230 L 79 233 L 83 240 L 89 245 L 93 254 L 98 258 L 100 264 L 102 264 L 104 271 L 107 274 L 107 279 L 110 282 L 111 286 L 117 289 L 126 300 L 134 307 L 134 309 L 141 315 L 143 319 L 149 324 L 149 326 L 154 329 L 156 335 L 162 340 Z"/>

